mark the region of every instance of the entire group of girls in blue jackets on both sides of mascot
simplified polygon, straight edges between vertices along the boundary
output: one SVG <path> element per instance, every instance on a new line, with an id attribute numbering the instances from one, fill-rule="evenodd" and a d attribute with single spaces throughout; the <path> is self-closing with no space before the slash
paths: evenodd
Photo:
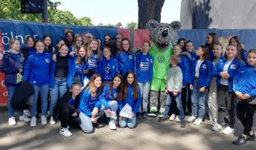
<path id="1" fill-rule="evenodd" d="M 23 82 L 28 81 L 35 89 L 31 97 L 34 103 L 29 109 L 32 118 L 26 117 L 23 110 L 19 110 L 19 120 L 31 121 L 32 127 L 37 123 L 35 116 L 39 93 L 41 124 L 47 124 L 50 95 L 50 124 L 55 124 L 56 118 L 59 118 L 59 132 L 65 136 L 72 135 L 68 129 L 69 122 L 77 124 L 85 133 L 93 132 L 93 124 L 104 112 L 117 114 L 117 118 L 109 120 L 111 130 L 116 130 L 117 122 L 120 127 L 136 127 L 136 116 L 147 118 L 154 62 L 148 54 L 151 44 L 148 41 L 143 43 L 142 52 L 135 55 L 130 40 L 123 38 L 119 51 L 113 56 L 108 47 L 109 37 L 105 36 L 102 50 L 99 48 L 99 40 L 91 39 L 84 45 L 83 38 L 79 34 L 74 35 L 72 31 L 66 32 L 64 40 L 57 41 L 56 49 L 49 35 L 36 41 L 34 37 L 26 37 L 23 49 L 20 49 L 19 40 L 11 39 L 10 50 L 5 52 L 1 65 L 8 87 L 8 123 L 16 124 L 10 102 L 21 83 L 17 80 L 20 75 L 23 76 Z M 245 130 L 234 143 L 243 144 L 247 139 L 254 139 L 251 126 L 255 110 L 255 81 L 252 77 L 255 72 L 255 50 L 247 54 L 239 38 L 234 36 L 230 38 L 224 52 L 214 33 L 208 34 L 206 44 L 197 50 L 194 50 L 191 40 L 185 39 L 179 40 L 173 49 L 173 54 L 180 58 L 177 65 L 182 72 L 182 89 L 178 93 L 181 94 L 181 103 L 177 103 L 179 107 L 182 105 L 182 114 L 187 111 L 192 113 L 187 121 L 201 124 L 207 113 L 206 107 L 209 107 L 212 130 L 224 128 L 222 133 L 233 133 L 237 115 Z M 244 72 L 248 74 L 245 76 Z M 247 80 L 242 80 L 247 76 Z M 130 118 L 118 115 L 125 104 L 133 109 Z M 54 114 L 56 107 L 59 108 L 59 115 Z M 179 121 L 178 113 L 181 110 L 171 109 L 171 112 L 176 114 L 169 119 Z M 228 121 L 224 119 L 226 115 L 229 115 Z"/>

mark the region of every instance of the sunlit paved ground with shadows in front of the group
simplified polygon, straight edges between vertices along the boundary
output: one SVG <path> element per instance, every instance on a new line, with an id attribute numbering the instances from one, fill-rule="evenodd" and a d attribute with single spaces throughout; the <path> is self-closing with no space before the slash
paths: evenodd
<path id="1" fill-rule="evenodd" d="M 256 120 L 256 115 L 254 116 Z M 213 132 L 205 122 L 200 126 L 187 123 L 186 128 L 179 127 L 174 121 L 157 122 L 156 118 L 139 120 L 135 129 L 117 128 L 109 130 L 108 125 L 96 128 L 95 133 L 86 134 L 82 130 L 70 129 L 71 137 L 59 135 L 59 122 L 30 127 L 29 123 L 17 121 L 14 127 L 8 126 L 7 108 L 0 107 L 0 150 L 5 149 L 92 149 L 92 150 L 214 150 L 244 149 L 255 150 L 256 142 L 245 145 L 233 145 L 231 142 L 242 133 L 241 123 L 236 123 L 235 135 L 224 136 Z M 256 124 L 253 130 L 256 131 Z"/>

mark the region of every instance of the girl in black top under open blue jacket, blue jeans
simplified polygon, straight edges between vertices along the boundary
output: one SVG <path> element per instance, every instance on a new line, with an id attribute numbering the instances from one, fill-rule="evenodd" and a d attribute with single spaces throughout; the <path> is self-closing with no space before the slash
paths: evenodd
<path id="1" fill-rule="evenodd" d="M 59 55 L 56 55 L 57 62 L 50 66 L 50 124 L 55 124 L 53 120 L 53 109 L 59 98 L 68 91 L 69 65 L 72 61 L 68 56 L 69 48 L 66 44 L 59 46 Z"/>

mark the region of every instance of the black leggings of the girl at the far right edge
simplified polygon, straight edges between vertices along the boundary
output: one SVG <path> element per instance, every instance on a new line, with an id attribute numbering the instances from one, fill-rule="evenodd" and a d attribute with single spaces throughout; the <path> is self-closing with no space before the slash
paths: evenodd
<path id="1" fill-rule="evenodd" d="M 242 122 L 242 125 L 245 127 L 243 133 L 249 135 L 251 127 L 253 124 L 253 115 L 256 110 L 256 105 L 254 104 L 237 104 L 236 115 L 237 118 Z"/>

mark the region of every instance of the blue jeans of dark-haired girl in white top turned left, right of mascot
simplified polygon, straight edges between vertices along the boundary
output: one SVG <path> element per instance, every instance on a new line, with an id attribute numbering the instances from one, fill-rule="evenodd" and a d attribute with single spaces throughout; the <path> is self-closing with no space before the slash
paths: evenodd
<path id="1" fill-rule="evenodd" d="M 203 115 L 206 113 L 206 91 L 200 92 L 198 87 L 198 80 L 195 80 L 193 90 L 191 92 L 191 102 L 192 102 L 192 115 L 203 119 Z"/>

